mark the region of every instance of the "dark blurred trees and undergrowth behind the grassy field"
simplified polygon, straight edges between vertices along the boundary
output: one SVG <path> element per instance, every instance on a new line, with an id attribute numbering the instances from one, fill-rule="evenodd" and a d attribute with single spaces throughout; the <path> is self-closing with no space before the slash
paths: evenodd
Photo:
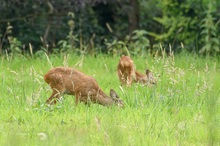
<path id="1" fill-rule="evenodd" d="M 1 0 L 0 54 L 220 54 L 219 0 Z"/>

